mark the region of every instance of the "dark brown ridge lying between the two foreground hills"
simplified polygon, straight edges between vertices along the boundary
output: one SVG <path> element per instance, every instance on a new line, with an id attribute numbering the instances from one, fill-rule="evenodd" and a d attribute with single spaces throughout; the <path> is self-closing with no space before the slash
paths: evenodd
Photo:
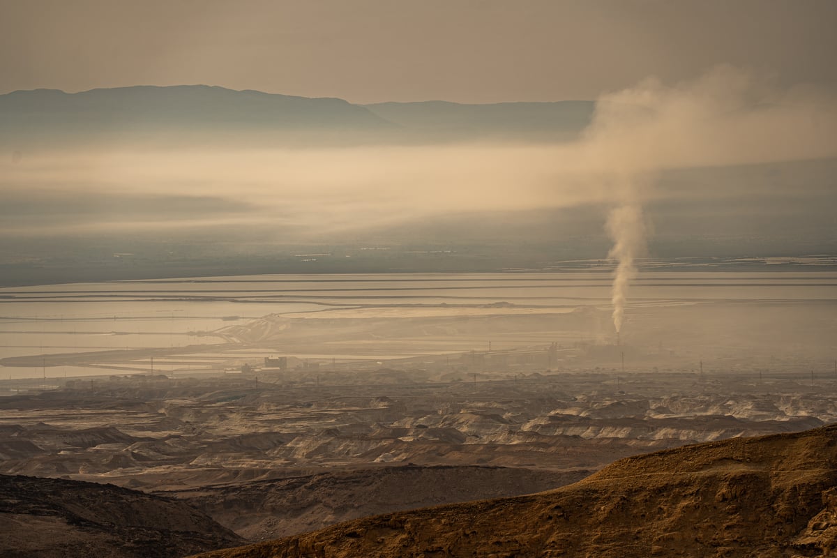
<path id="1" fill-rule="evenodd" d="M 264 540 L 403 509 L 531 494 L 590 473 L 410 464 L 159 494 L 181 499 L 249 540 Z"/>

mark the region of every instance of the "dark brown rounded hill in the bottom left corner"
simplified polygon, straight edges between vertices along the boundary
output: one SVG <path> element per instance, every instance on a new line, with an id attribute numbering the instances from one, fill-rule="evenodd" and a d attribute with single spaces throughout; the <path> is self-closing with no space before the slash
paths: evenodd
<path id="1" fill-rule="evenodd" d="M 5 558 L 161 558 L 244 542 L 176 500 L 63 479 L 0 475 Z"/>

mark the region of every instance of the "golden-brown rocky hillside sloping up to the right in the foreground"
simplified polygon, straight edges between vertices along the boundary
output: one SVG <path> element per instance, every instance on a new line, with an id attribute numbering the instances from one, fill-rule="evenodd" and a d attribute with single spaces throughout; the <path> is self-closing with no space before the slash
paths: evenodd
<path id="1" fill-rule="evenodd" d="M 837 426 L 621 459 L 567 487 L 379 515 L 204 558 L 831 556 Z"/>

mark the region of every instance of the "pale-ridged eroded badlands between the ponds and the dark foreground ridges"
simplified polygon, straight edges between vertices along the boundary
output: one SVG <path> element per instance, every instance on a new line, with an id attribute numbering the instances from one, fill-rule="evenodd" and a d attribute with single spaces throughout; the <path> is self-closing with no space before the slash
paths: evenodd
<path id="1" fill-rule="evenodd" d="M 407 463 L 598 469 L 837 421 L 837 381 L 802 382 L 801 366 L 764 379 L 378 369 L 73 381 L 0 397 L 0 474 L 167 490 Z"/>

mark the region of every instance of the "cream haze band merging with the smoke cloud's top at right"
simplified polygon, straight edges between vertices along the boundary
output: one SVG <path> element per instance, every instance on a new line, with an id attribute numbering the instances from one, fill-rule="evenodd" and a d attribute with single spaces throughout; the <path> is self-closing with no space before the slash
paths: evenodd
<path id="1" fill-rule="evenodd" d="M 826 95 L 721 67 L 603 95 L 582 138 L 564 143 L 36 150 L 0 161 L 0 233 L 264 225 L 275 230 L 266 241 L 334 240 L 444 214 L 665 200 L 721 207 L 733 193 L 814 208 L 823 192 L 793 176 L 742 180 L 732 191 L 727 182 L 654 184 L 661 172 L 837 157 L 834 107 Z"/>

